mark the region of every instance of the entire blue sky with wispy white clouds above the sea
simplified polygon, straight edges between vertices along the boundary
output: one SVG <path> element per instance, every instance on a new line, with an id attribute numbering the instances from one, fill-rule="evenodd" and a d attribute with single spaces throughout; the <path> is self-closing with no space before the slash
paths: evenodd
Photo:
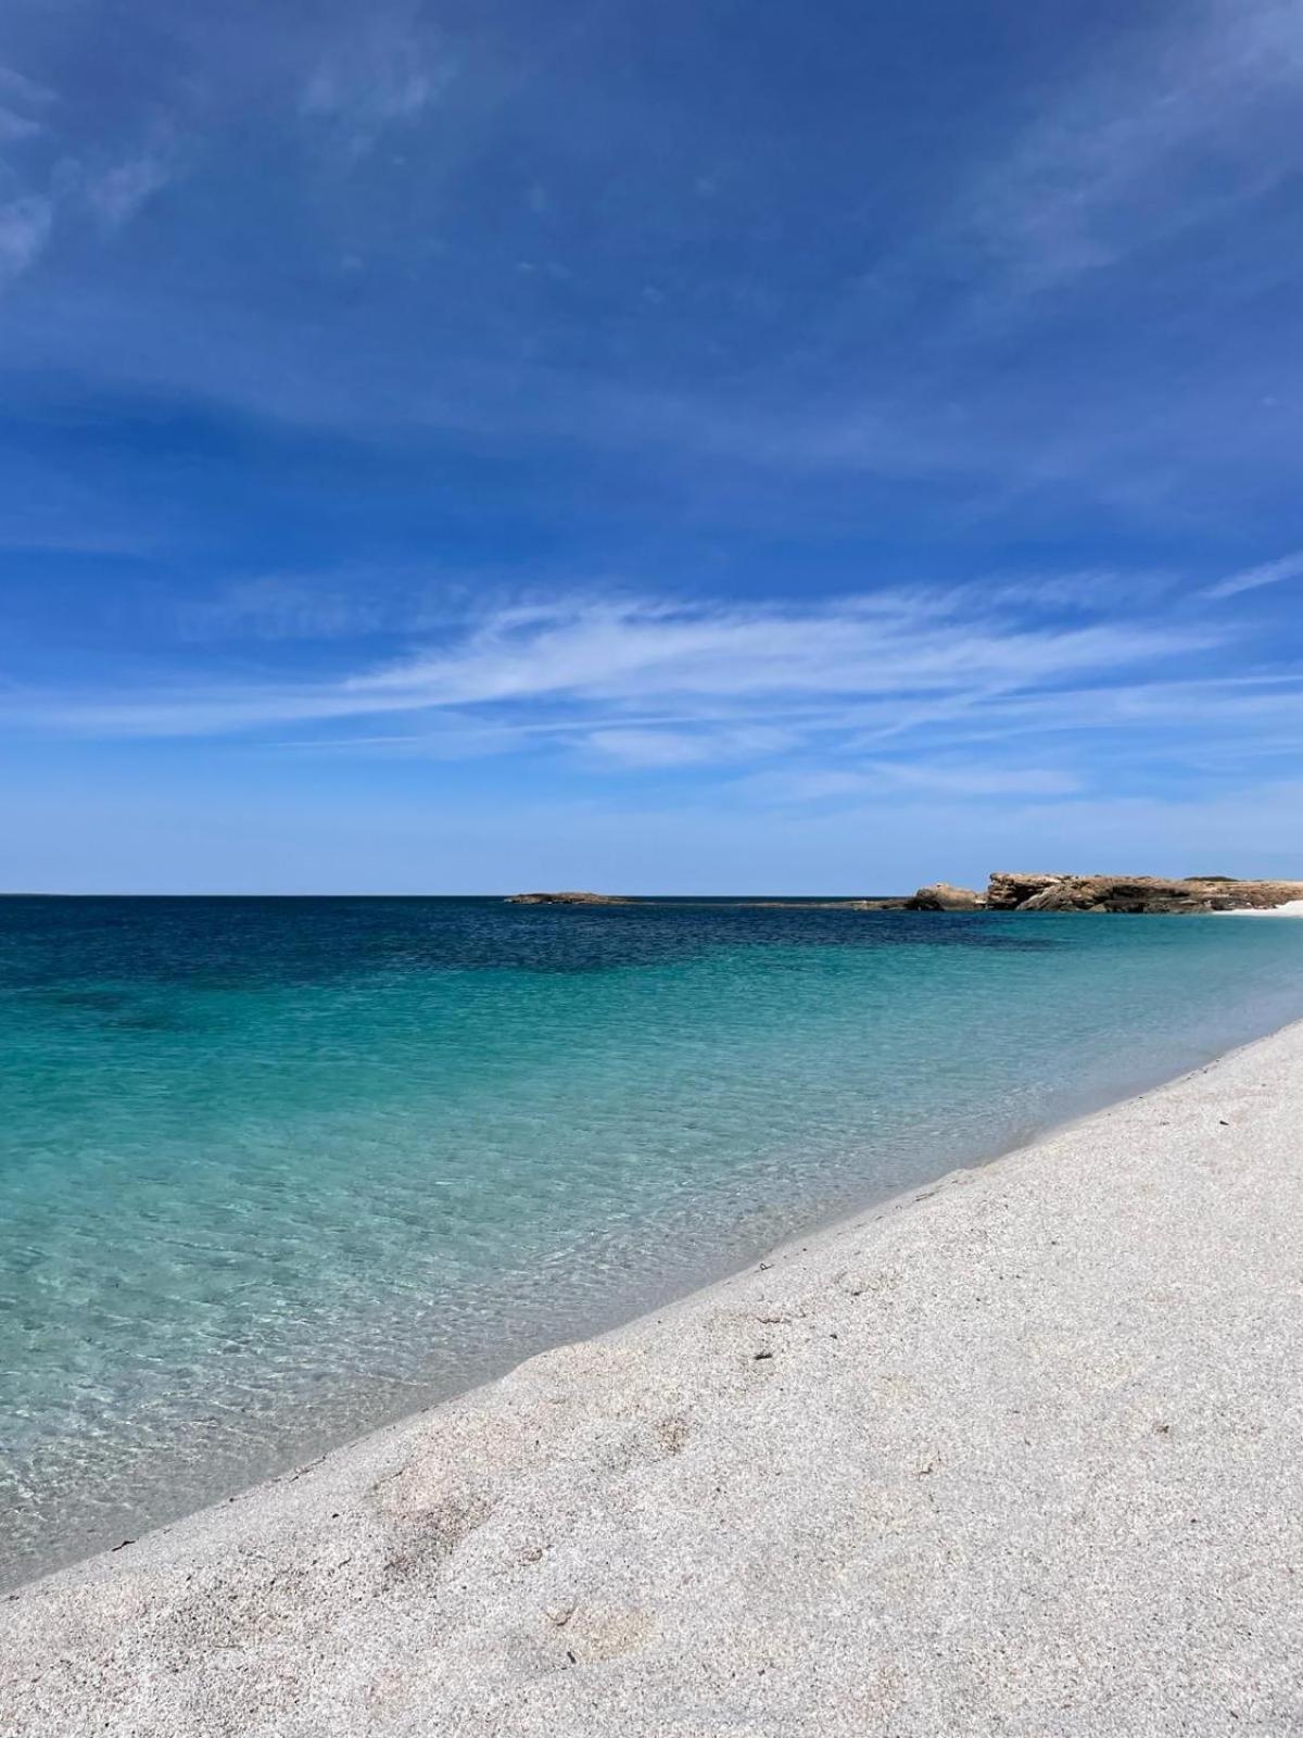
<path id="1" fill-rule="evenodd" d="M 1303 876 L 1303 3 L 7 0 L 0 888 Z"/>

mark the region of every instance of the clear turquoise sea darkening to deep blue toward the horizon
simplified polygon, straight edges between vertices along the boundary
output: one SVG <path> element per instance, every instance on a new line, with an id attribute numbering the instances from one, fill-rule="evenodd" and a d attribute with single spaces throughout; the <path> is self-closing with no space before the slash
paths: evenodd
<path id="1" fill-rule="evenodd" d="M 0 1578 L 1303 1015 L 1303 923 L 0 900 Z"/>

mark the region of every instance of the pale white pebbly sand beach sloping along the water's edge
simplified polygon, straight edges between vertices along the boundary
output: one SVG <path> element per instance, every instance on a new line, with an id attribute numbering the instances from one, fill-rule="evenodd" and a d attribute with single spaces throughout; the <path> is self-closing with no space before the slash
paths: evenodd
<path id="1" fill-rule="evenodd" d="M 0 1731 L 1303 1731 L 1303 1025 L 21 1590 Z"/>

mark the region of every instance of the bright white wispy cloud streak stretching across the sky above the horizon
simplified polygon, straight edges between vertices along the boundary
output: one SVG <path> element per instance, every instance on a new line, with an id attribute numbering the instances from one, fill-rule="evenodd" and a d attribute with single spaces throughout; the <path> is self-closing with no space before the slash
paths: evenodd
<path id="1" fill-rule="evenodd" d="M 883 761 L 888 740 L 896 758 L 912 744 L 952 756 L 983 732 L 1016 733 L 1020 706 L 1063 706 L 1089 692 L 1082 683 L 1107 695 L 1122 671 L 1180 666 L 1223 640 L 1194 619 L 1020 619 L 938 587 L 806 607 L 589 594 L 492 608 L 436 648 L 332 681 L 10 692 L 0 716 L 38 730 L 288 742 L 332 723 L 354 753 L 563 751 L 658 772 L 799 761 L 804 773 L 811 758 L 843 770 Z M 394 728 L 377 733 L 386 720 Z M 1018 773 L 1020 791 L 1049 796 L 1070 773 L 1029 777 Z M 985 787 L 997 791 L 994 770 Z"/>

